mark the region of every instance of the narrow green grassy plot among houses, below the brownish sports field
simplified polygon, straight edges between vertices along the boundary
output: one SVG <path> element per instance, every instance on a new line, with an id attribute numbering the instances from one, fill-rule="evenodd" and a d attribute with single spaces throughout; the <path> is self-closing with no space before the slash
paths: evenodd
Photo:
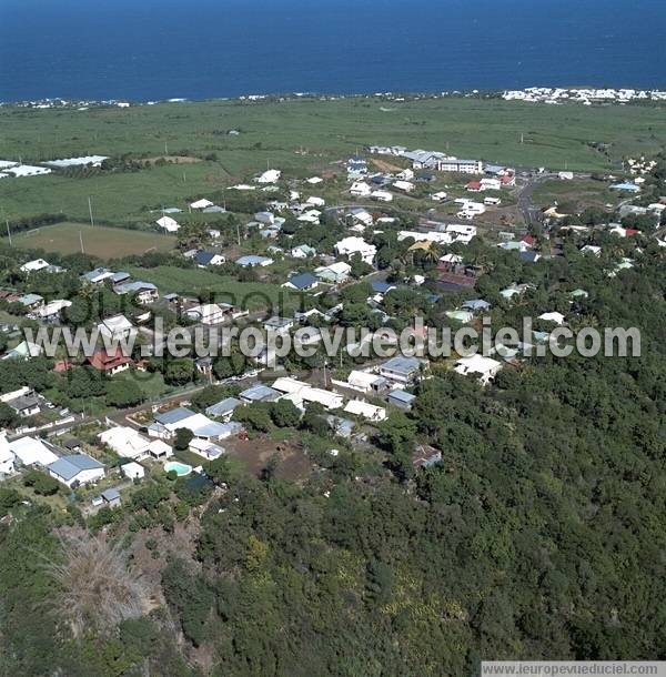
<path id="1" fill-rule="evenodd" d="M 299 305 L 297 294 L 275 284 L 239 282 L 201 269 L 130 266 L 128 272 L 137 279 L 157 284 L 161 294 L 175 292 L 206 302 L 230 303 L 249 311 L 271 311 L 274 314 L 284 314 Z"/>

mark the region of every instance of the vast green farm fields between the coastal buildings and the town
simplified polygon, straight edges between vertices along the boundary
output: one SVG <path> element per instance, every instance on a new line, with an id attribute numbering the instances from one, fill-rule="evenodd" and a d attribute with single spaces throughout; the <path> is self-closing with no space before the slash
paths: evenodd
<path id="1" fill-rule="evenodd" d="M 554 170 L 617 171 L 623 156 L 654 154 L 666 145 L 664 110 L 455 98 L 390 104 L 303 99 L 88 111 L 3 108 L 0 159 L 37 162 L 88 153 L 155 158 L 165 152 L 200 159 L 214 153 L 216 159 L 90 178 L 4 179 L 0 206 L 10 220 L 63 212 L 83 221 L 90 195 L 100 220 L 151 221 L 149 209 L 182 208 L 188 198 L 248 180 L 266 163 L 287 178 L 303 178 L 367 144 L 426 148 Z M 231 129 L 241 134 L 229 135 Z M 608 154 L 595 150 L 594 142 L 609 143 Z"/>

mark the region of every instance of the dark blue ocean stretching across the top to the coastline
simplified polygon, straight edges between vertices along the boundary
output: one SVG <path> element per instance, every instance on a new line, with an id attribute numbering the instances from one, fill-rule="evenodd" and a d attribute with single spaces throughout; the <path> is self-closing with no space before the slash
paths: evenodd
<path id="1" fill-rule="evenodd" d="M 666 87 L 666 0 L 0 0 L 0 101 Z"/>

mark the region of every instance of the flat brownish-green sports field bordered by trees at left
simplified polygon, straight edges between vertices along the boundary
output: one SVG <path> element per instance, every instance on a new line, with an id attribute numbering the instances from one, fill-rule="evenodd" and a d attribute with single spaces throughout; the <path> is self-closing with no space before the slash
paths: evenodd
<path id="1" fill-rule="evenodd" d="M 73 254 L 81 251 L 81 240 L 87 254 L 100 259 L 118 259 L 131 254 L 142 254 L 149 250 L 169 251 L 175 244 L 175 238 L 131 231 L 120 228 L 107 228 L 80 223 L 58 223 L 31 231 L 23 231 L 12 236 L 13 246 L 22 249 L 42 249 L 47 252 Z M 3 239 L 7 243 L 7 238 Z"/>

